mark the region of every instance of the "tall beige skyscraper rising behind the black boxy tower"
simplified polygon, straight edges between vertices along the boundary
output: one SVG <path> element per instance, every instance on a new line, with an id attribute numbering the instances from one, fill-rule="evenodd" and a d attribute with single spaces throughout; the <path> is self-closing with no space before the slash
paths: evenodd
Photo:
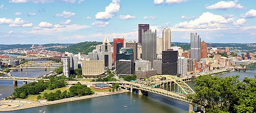
<path id="1" fill-rule="evenodd" d="M 163 51 L 171 48 L 171 29 L 163 28 Z"/>

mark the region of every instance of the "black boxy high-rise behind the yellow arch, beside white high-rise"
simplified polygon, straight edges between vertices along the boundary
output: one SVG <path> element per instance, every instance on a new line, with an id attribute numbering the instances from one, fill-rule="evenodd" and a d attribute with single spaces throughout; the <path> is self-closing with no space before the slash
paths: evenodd
<path id="1" fill-rule="evenodd" d="M 162 74 L 176 75 L 178 51 L 167 50 L 162 54 Z"/>

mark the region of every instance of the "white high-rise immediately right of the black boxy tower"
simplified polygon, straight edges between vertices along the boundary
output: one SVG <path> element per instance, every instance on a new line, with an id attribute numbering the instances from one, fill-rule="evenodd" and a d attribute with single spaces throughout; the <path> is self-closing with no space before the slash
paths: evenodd
<path id="1" fill-rule="evenodd" d="M 178 57 L 178 70 L 177 73 L 181 75 L 187 74 L 188 61 L 185 57 Z"/>

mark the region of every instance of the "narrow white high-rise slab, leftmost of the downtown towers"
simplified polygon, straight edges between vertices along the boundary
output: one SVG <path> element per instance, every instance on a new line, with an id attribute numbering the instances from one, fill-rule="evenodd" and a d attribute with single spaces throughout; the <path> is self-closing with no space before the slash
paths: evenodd
<path id="1" fill-rule="evenodd" d="M 70 76 L 70 57 L 63 56 L 61 58 L 61 62 L 63 66 L 63 69 L 62 69 L 63 75 L 66 77 L 69 77 Z"/>

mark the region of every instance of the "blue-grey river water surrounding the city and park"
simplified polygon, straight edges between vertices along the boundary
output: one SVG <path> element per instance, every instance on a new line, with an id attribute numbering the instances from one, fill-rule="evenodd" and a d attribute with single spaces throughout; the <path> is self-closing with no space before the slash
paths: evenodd
<path id="1" fill-rule="evenodd" d="M 38 76 L 47 73 L 49 73 L 49 71 L 44 71 L 44 69 L 24 69 L 23 72 L 12 72 L 12 74 L 17 77 Z M 246 70 L 246 72 L 235 71 L 218 76 L 227 77 L 230 75 L 240 75 L 239 80 L 242 80 L 245 76 L 253 78 L 254 74 L 256 74 L 256 70 Z M 187 84 L 194 88 L 192 81 L 187 82 Z M 3 94 L 1 97 L 9 96 L 14 91 L 14 88 L 22 85 L 22 82 L 18 82 L 17 86 L 13 86 L 12 81 L 1 80 L 0 93 Z M 123 106 L 125 105 L 128 107 L 124 108 Z M 38 110 L 45 110 L 47 113 L 187 113 L 188 109 L 189 104 L 186 102 L 152 93 L 148 93 L 148 96 L 144 96 L 133 92 L 17 110 L 8 113 L 38 113 Z"/>

